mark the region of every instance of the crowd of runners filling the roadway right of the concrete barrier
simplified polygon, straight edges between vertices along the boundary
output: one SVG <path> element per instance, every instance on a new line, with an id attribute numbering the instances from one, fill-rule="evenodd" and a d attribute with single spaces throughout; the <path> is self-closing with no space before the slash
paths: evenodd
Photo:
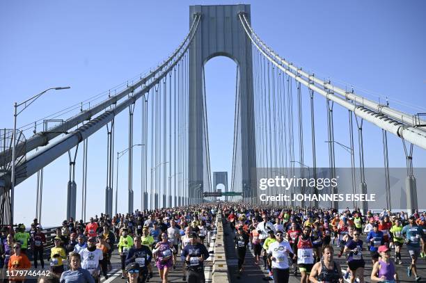
<path id="1" fill-rule="evenodd" d="M 396 265 L 407 265 L 407 275 L 421 280 L 418 260 L 426 257 L 426 213 L 381 213 L 359 210 L 338 213 L 335 209 L 253 207 L 248 204 L 223 206 L 223 216 L 235 231 L 239 275 L 250 248 L 255 264 L 269 272 L 264 280 L 286 283 L 290 273 L 301 275 L 300 282 L 351 283 L 369 276 L 377 282 L 399 282 Z M 365 240 L 361 240 L 361 236 Z M 365 237 L 366 236 L 366 237 Z M 411 259 L 402 262 L 406 248 Z M 345 257 L 346 272 L 333 260 Z M 372 261 L 366 262 L 369 252 Z M 364 267 L 372 266 L 366 274 Z"/>

